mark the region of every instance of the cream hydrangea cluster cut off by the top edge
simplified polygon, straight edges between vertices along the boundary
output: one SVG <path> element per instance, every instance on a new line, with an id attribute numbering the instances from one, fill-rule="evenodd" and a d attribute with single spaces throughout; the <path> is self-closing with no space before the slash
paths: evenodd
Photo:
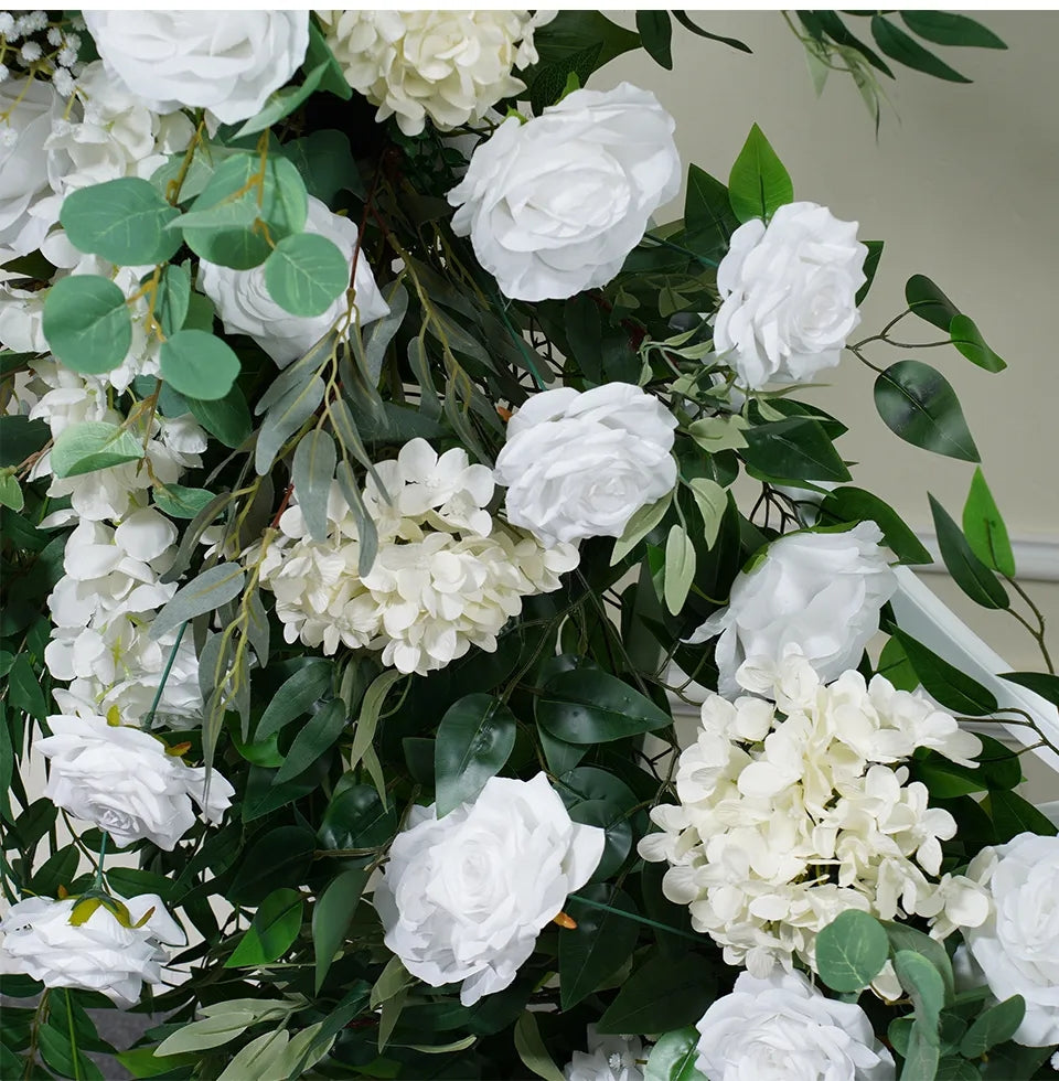
<path id="1" fill-rule="evenodd" d="M 512 72 L 537 62 L 534 30 L 554 12 L 318 11 L 328 44 L 376 119 L 396 116 L 405 135 L 429 118 L 447 131 L 477 122 L 526 88 Z"/>

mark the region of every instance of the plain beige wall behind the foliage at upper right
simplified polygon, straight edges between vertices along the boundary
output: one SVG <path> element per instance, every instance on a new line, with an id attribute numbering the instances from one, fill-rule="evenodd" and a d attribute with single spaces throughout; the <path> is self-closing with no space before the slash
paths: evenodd
<path id="1" fill-rule="evenodd" d="M 612 14 L 632 21 L 630 12 Z M 976 12 L 1009 50 L 948 51 L 972 85 L 899 69 L 888 92 L 897 114 L 884 113 L 878 141 L 848 77 L 833 75 L 815 97 L 802 46 L 778 12 L 696 18 L 755 54 L 676 26 L 674 71 L 637 53 L 592 85 L 629 79 L 653 89 L 676 117 L 685 163 L 721 180 L 757 121 L 790 170 L 796 197 L 859 221 L 862 238 L 885 239 L 864 335 L 903 309 L 903 283 L 916 272 L 975 319 L 1008 362 L 1006 372 L 983 372 L 948 346 L 918 354 L 886 346 L 871 355 L 882 364 L 916 355 L 946 375 L 1013 537 L 1050 543 L 1039 550 L 1059 578 L 1059 12 Z M 676 202 L 660 220 L 680 214 Z M 909 327 L 905 341 L 935 340 L 918 320 L 901 325 Z M 812 394 L 851 427 L 839 449 L 859 463 L 855 481 L 888 499 L 914 528 L 931 529 L 928 491 L 959 518 L 973 467 L 894 436 L 876 416 L 873 373 L 852 355 L 832 375 L 832 386 Z M 1008 616 L 983 612 L 939 576 L 927 581 L 1013 666 L 1039 666 L 1033 640 Z M 1059 581 L 1027 586 L 1051 619 L 1059 652 Z"/>

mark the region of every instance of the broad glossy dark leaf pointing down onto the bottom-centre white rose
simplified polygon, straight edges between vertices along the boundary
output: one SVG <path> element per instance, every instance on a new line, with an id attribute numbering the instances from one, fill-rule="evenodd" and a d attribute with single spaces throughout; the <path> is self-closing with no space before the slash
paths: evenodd
<path id="1" fill-rule="evenodd" d="M 514 714 L 492 695 L 467 695 L 446 710 L 434 745 L 439 818 L 472 802 L 503 769 L 515 729 Z"/>

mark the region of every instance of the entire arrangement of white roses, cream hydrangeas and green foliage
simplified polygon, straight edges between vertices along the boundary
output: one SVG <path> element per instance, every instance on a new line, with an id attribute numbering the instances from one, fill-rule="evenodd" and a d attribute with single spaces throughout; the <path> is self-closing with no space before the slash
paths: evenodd
<path id="1" fill-rule="evenodd" d="M 890 62 L 1003 47 L 858 18 L 791 25 L 877 119 Z M 930 556 L 799 396 L 860 362 L 977 463 L 890 331 L 1004 361 L 919 275 L 853 340 L 880 242 L 758 127 L 723 183 L 650 90 L 585 87 L 672 66 L 673 20 L 748 49 L 685 12 L 0 13 L 3 1077 L 1059 1061 L 1059 839 L 983 731 L 1034 718 L 900 625 Z M 1041 645 L 1004 685 L 1059 704 L 981 469 L 932 512 Z"/>

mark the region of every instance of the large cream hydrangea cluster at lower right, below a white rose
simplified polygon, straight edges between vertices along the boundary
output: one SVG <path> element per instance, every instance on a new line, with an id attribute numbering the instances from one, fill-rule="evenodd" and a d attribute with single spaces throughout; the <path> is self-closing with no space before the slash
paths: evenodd
<path id="1" fill-rule="evenodd" d="M 745 668 L 739 678 L 763 682 Z M 813 966 L 817 932 L 846 909 L 922 917 L 937 938 L 984 920 L 977 882 L 938 878 L 955 821 L 900 764 L 929 747 L 974 766 L 977 737 L 882 676 L 866 685 L 848 671 L 824 685 L 791 653 L 772 681 L 774 704 L 712 695 L 703 705 L 680 759 L 680 804 L 655 807 L 662 832 L 640 843 L 644 859 L 671 865 L 665 896 L 688 906 L 729 964 L 762 978 L 794 957 Z"/>

